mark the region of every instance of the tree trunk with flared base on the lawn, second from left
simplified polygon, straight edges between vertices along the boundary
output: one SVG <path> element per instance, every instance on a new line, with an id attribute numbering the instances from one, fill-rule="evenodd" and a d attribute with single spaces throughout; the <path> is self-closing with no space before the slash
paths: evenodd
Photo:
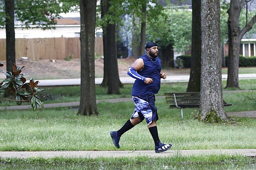
<path id="1" fill-rule="evenodd" d="M 80 0 L 81 86 L 77 115 L 97 115 L 95 97 L 94 40 L 96 1 Z"/>

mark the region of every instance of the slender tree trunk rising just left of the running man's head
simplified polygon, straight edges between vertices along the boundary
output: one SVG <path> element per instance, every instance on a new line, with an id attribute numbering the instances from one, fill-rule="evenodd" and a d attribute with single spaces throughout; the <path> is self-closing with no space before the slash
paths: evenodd
<path id="1" fill-rule="evenodd" d="M 146 1 L 142 4 L 142 17 L 141 17 L 141 27 L 140 27 L 140 43 L 139 43 L 139 55 L 145 53 L 145 43 L 146 43 Z"/>

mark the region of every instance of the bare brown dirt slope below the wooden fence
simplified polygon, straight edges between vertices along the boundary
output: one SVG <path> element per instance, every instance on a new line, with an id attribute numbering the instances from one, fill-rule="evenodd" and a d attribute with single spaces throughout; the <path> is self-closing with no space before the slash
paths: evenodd
<path id="1" fill-rule="evenodd" d="M 127 76 L 127 69 L 134 61 L 134 58 L 118 59 L 119 77 Z M 1 70 L 6 71 L 6 62 Z M 80 59 L 65 60 L 24 60 L 16 59 L 16 65 L 25 66 L 22 73 L 26 79 L 70 79 L 80 78 Z M 101 58 L 95 59 L 95 77 L 103 77 L 104 61 Z M 189 75 L 189 69 L 163 69 L 167 75 Z M 0 78 L 5 78 L 4 74 L 0 74 Z"/>

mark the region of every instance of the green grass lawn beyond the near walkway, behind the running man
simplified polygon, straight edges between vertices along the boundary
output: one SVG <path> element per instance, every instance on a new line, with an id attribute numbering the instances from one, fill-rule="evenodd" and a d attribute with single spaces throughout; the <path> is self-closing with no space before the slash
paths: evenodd
<path id="1" fill-rule="evenodd" d="M 254 89 L 255 80 L 241 80 L 240 86 Z M 106 88 L 96 87 L 97 99 L 130 97 L 132 85 L 121 88 L 120 95 L 105 95 Z M 157 96 L 167 91 L 185 91 L 186 83 L 163 83 Z M 79 101 L 79 86 L 45 88 L 45 103 Z M 232 106 L 225 112 L 256 110 L 254 91 L 223 92 Z M 4 104 L 4 103 L 2 103 Z M 164 98 L 157 98 L 159 136 L 176 150 L 255 148 L 256 120 L 233 118 L 233 124 L 204 124 L 193 119 L 197 108 L 169 108 Z M 133 112 L 133 103 L 100 102 L 98 116 L 76 116 L 78 107 L 5 110 L 0 112 L 0 151 L 72 151 L 115 150 L 109 131 L 118 130 Z M 152 150 L 153 141 L 145 122 L 127 132 L 120 140 L 120 150 Z"/>

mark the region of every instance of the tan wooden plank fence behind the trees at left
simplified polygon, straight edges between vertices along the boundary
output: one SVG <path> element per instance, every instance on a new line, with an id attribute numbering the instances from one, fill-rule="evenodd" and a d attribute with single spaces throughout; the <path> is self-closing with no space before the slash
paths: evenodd
<path id="1" fill-rule="evenodd" d="M 5 39 L 0 39 L 0 61 L 6 60 Z M 15 40 L 16 59 L 29 60 L 64 59 L 70 55 L 80 58 L 80 40 L 74 38 L 17 38 Z M 103 55 L 102 37 L 95 37 L 95 54 Z"/>

